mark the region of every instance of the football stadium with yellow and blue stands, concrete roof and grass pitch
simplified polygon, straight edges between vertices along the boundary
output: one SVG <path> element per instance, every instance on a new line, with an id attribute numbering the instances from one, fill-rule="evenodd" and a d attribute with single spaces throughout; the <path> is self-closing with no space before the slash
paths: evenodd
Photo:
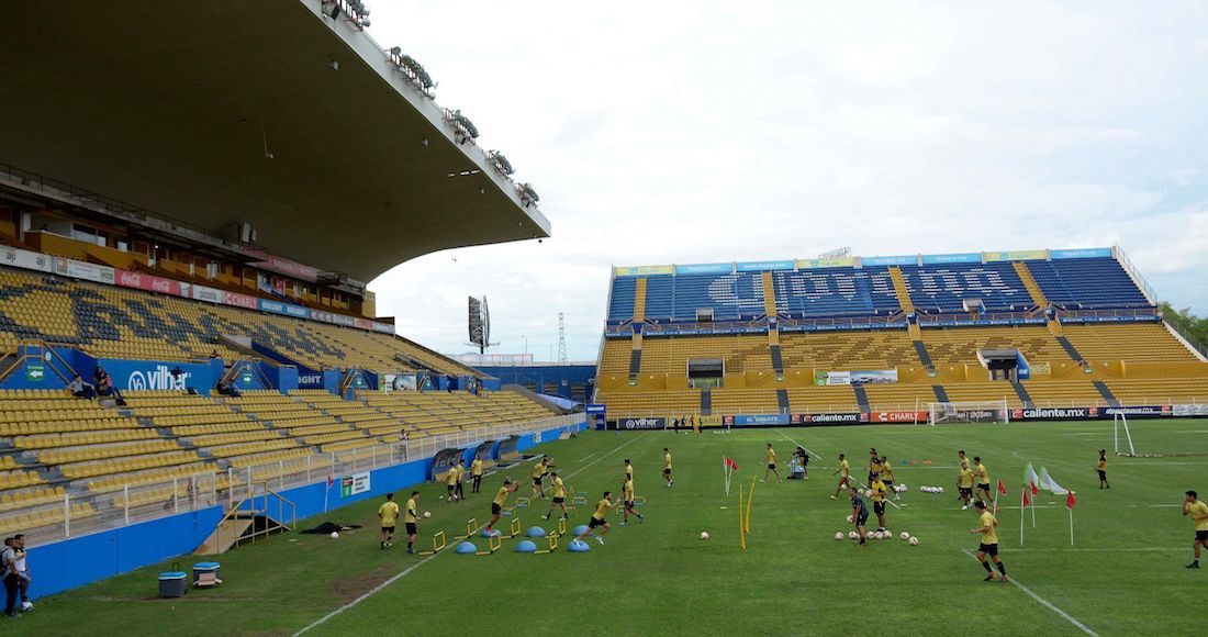
<path id="1" fill-rule="evenodd" d="M 577 363 L 447 282 L 459 357 L 374 282 L 561 236 L 371 8 L 5 4 L 0 633 L 1203 631 L 1208 358 L 1121 245 L 668 250 Z"/>

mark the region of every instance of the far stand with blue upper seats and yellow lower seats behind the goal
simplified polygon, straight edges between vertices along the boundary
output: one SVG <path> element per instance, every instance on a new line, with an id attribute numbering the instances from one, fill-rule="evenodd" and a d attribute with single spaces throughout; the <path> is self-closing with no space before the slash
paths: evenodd
<path id="1" fill-rule="evenodd" d="M 614 271 L 596 383 L 609 413 L 1208 403 L 1208 363 L 1163 323 L 1119 248 L 679 270 Z M 1020 382 L 992 380 L 988 352 L 1015 355 Z M 709 359 L 725 371 L 702 395 L 687 367 Z M 896 382 L 814 384 L 861 370 Z"/>

